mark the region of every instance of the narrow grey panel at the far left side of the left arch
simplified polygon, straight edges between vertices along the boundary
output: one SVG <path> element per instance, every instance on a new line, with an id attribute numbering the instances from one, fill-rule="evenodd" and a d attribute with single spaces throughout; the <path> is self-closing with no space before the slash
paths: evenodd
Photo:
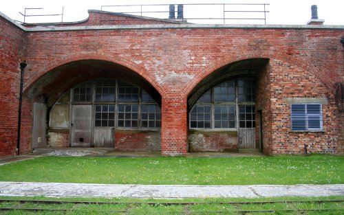
<path id="1" fill-rule="evenodd" d="M 34 102 L 34 119 L 32 124 L 32 144 L 31 148 L 44 147 L 46 144 L 45 125 L 47 116 L 47 106 L 43 103 Z"/>

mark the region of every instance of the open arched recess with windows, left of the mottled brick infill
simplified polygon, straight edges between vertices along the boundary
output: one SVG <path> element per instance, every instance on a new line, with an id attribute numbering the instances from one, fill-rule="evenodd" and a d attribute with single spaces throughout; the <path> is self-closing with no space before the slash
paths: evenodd
<path id="1" fill-rule="evenodd" d="M 188 98 L 189 151 L 256 150 L 256 89 L 269 60 L 239 60 L 215 69 Z"/>

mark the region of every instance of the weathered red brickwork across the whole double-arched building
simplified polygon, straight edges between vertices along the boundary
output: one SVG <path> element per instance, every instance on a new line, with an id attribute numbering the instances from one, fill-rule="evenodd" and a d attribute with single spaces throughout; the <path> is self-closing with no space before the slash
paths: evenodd
<path id="1" fill-rule="evenodd" d="M 143 25 L 147 23 L 152 25 Z M 161 141 L 155 134 L 153 139 L 160 141 L 162 155 L 186 155 L 188 148 L 224 150 L 219 144 L 225 142 L 222 136 L 217 140 L 204 137 L 217 145 L 194 144 L 188 124 L 188 98 L 197 84 L 215 71 L 256 58 L 268 60 L 266 66 L 255 68 L 259 71 L 256 106 L 262 112 L 263 151 L 268 155 L 300 154 L 307 144 L 311 152 L 343 152 L 343 113 L 335 104 L 334 84 L 344 82 L 344 49 L 340 43 L 344 27 L 156 25 L 160 23 L 91 12 L 88 21 L 75 23 L 73 29 L 56 25 L 54 30 L 27 27 L 24 31 L 0 16 L 0 56 L 4 62 L 0 65 L 0 156 L 13 155 L 17 148 L 19 63 L 23 58 L 28 67 L 21 153 L 30 151 L 33 102 L 47 102 L 50 108 L 59 95 L 76 84 L 102 77 L 132 79 L 156 94 L 155 99 L 161 102 L 162 128 Z M 325 98 L 324 131 L 291 132 L 287 98 Z M 145 144 L 150 136 L 116 133 L 115 147 L 159 150 Z M 202 142 L 202 138 L 197 141 Z"/>

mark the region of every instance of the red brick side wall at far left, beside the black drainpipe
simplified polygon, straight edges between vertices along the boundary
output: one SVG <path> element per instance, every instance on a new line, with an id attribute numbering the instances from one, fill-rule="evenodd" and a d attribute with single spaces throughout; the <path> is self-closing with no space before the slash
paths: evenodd
<path id="1" fill-rule="evenodd" d="M 15 155 L 23 30 L 0 16 L 0 157 Z"/>

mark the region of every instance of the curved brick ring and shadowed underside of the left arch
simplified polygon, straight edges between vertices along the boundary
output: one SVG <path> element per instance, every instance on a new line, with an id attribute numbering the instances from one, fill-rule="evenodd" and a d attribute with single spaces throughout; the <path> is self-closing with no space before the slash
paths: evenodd
<path id="1" fill-rule="evenodd" d="M 79 54 L 54 60 L 28 78 L 24 94 L 27 98 L 43 95 L 45 102 L 51 105 L 76 84 L 95 78 L 120 78 L 142 87 L 161 102 L 160 85 L 151 73 L 133 61 L 103 55 Z"/>

